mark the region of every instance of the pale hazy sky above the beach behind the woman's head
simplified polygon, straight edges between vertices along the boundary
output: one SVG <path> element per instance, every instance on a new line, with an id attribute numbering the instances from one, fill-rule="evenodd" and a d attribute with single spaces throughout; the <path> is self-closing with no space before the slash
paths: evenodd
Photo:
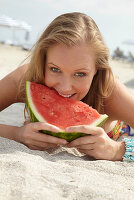
<path id="1" fill-rule="evenodd" d="M 79 11 L 95 20 L 111 51 L 120 46 L 134 53 L 133 45 L 123 43 L 134 41 L 133 10 L 134 0 L 0 0 L 0 15 L 32 25 L 32 41 L 58 15 Z"/>

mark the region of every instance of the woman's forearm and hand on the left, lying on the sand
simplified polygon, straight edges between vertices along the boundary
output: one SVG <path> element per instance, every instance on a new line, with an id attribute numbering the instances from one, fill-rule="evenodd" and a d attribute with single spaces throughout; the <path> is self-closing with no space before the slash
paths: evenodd
<path id="1" fill-rule="evenodd" d="M 9 126 L 0 124 L 0 136 L 26 145 L 32 150 L 46 150 L 67 143 L 66 140 L 42 134 L 40 130 L 59 132 L 56 126 L 45 122 L 29 123 L 25 126 Z"/>

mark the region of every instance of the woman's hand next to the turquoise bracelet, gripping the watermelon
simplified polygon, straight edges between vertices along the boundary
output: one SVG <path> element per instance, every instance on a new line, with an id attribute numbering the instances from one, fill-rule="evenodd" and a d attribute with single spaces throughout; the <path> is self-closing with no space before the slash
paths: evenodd
<path id="1" fill-rule="evenodd" d="M 125 146 L 109 138 L 101 127 L 80 125 L 68 127 L 66 132 L 83 132 L 87 136 L 73 140 L 66 147 L 75 147 L 81 153 L 85 153 L 96 159 L 122 160 L 125 153 Z"/>

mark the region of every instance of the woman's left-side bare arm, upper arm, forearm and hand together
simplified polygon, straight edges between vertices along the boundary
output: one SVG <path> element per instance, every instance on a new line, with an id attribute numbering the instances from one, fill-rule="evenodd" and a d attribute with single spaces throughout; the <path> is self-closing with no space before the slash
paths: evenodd
<path id="1" fill-rule="evenodd" d="M 21 98 L 17 98 L 17 92 L 27 67 L 24 65 L 0 80 L 0 111 L 13 103 L 23 102 Z M 42 134 L 40 130 L 61 131 L 58 127 L 45 122 L 29 123 L 21 127 L 0 124 L 1 137 L 23 143 L 30 149 L 45 150 L 67 143 L 64 139 Z"/>

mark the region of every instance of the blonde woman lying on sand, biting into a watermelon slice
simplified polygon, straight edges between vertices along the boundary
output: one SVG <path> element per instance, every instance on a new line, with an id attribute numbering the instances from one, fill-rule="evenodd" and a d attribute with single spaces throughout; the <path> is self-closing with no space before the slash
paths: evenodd
<path id="1" fill-rule="evenodd" d="M 68 144 L 64 139 L 39 133 L 41 129 L 60 131 L 41 122 L 22 127 L 1 124 L 0 136 L 35 150 L 65 145 L 96 159 L 134 159 L 133 140 L 116 141 L 122 134 L 130 135 L 129 126 L 134 128 L 134 96 L 113 76 L 109 50 L 92 18 L 74 12 L 54 19 L 31 51 L 30 62 L 0 81 L 0 110 L 16 102 L 25 103 L 26 80 L 53 88 L 61 96 L 81 100 L 99 113 L 106 113 L 109 119 L 101 128 L 68 127 L 67 132 L 89 134 Z"/>

